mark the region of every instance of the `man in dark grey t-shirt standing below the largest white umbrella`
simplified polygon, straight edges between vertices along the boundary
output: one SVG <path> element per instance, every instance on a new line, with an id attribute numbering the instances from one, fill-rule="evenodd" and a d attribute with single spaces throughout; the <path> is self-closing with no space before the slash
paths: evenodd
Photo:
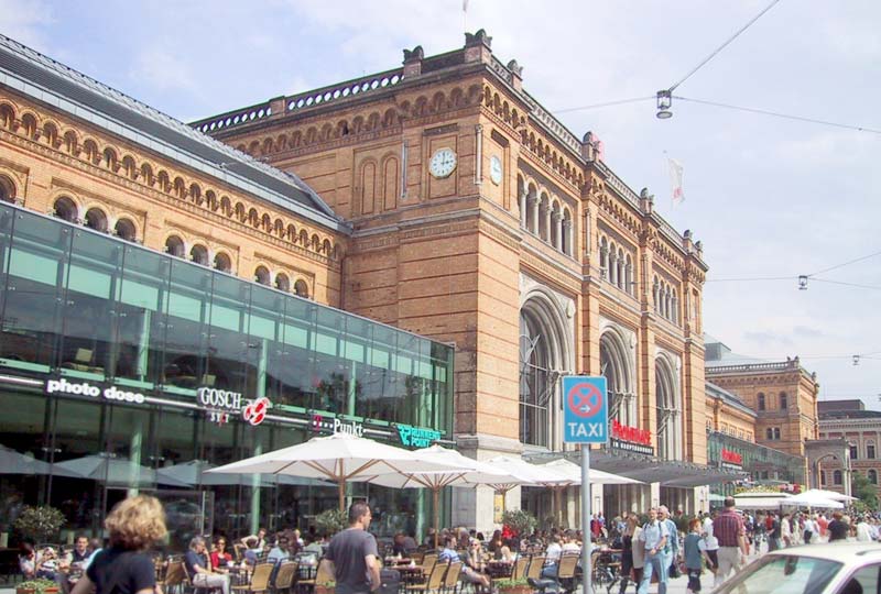
<path id="1" fill-rule="evenodd" d="M 369 594 L 380 586 L 377 539 L 367 531 L 372 516 L 365 502 L 349 507 L 349 527 L 334 536 L 322 563 L 334 562 L 338 594 Z"/>

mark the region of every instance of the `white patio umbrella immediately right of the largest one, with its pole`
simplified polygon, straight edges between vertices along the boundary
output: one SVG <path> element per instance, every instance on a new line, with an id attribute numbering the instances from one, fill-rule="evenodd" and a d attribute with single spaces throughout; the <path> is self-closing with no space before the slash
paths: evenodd
<path id="1" fill-rule="evenodd" d="M 378 474 L 369 480 L 370 484 L 382 485 L 392 488 L 417 488 L 424 487 L 432 491 L 434 501 L 434 546 L 437 548 L 437 535 L 439 524 L 438 498 L 440 490 L 448 486 L 476 487 L 500 482 L 519 482 L 520 479 L 510 475 L 502 470 L 493 469 L 491 465 L 479 462 L 467 455 L 463 455 L 456 450 L 448 450 L 440 446 L 431 446 L 413 452 L 421 460 L 446 463 L 459 466 L 456 471 L 442 472 L 404 472 L 394 474 Z"/>

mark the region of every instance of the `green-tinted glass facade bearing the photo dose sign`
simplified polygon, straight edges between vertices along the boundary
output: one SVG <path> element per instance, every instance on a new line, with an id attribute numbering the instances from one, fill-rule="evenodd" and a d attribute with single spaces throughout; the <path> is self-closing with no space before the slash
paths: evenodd
<path id="1" fill-rule="evenodd" d="M 97 529 L 131 490 L 165 493 L 182 517 L 206 507 L 231 536 L 305 528 L 336 505 L 334 486 L 205 487 L 168 469 L 300 443 L 334 419 L 398 444 L 399 426 L 452 436 L 450 346 L 12 205 L 0 207 L 0 444 L 39 469 L 0 469 L 0 530 L 21 503 Z M 207 403 L 218 395 L 268 398 L 269 416 L 253 426 Z M 431 517 L 418 490 L 350 492 L 370 498 L 381 534 Z"/>

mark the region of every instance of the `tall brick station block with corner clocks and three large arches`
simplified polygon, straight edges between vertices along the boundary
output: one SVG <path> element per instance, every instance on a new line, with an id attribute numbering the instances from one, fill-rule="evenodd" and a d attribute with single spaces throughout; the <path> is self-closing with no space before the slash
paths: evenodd
<path id="1" fill-rule="evenodd" d="M 544 109 L 486 32 L 192 125 L 295 173 L 351 226 L 334 305 L 455 344 L 461 451 L 562 455 L 559 377 L 603 374 L 612 418 L 650 437 L 594 465 L 650 485 L 606 487 L 595 507 L 693 510 L 694 487 L 718 479 L 705 465 L 700 243 L 616 175 L 590 132 Z M 522 497 L 544 517 L 547 495 L 519 491 L 509 506 Z M 490 517 L 491 491 L 458 497 L 457 521 Z"/>

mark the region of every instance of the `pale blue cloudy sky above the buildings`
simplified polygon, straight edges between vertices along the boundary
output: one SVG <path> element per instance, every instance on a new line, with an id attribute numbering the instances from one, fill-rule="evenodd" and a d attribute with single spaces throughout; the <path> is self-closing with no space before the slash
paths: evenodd
<path id="1" fill-rule="evenodd" d="M 685 78 L 770 2 L 0 0 L 0 32 L 191 121 L 395 68 L 403 48 L 456 50 L 486 29 L 533 97 L 576 136 L 597 134 L 618 176 L 703 242 L 708 333 L 753 358 L 800 355 L 820 399 L 881 409 L 881 254 L 797 287 L 881 252 L 881 2 L 781 0 Z M 668 120 L 653 100 L 576 109 L 683 78 Z M 676 207 L 667 156 L 685 172 Z M 755 280 L 768 277 L 784 278 Z"/>

